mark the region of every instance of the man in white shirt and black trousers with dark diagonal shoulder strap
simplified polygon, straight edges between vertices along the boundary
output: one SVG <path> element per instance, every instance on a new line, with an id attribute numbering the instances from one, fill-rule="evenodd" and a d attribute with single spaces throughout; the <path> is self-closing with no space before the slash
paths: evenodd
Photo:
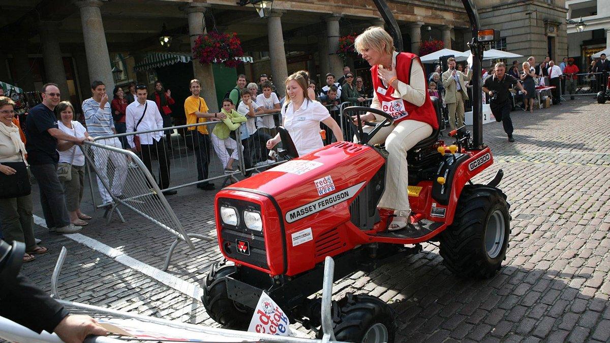
<path id="1" fill-rule="evenodd" d="M 159 112 L 159 107 L 152 100 L 147 100 L 148 90 L 146 85 L 137 85 L 135 87 L 135 94 L 137 96 L 136 101 L 127 106 L 125 123 L 127 125 L 127 132 L 135 131 L 148 131 L 148 130 L 159 130 L 155 132 L 149 132 L 147 134 L 138 134 L 140 139 L 140 146 L 142 147 L 142 162 L 150 171 L 152 177 L 152 154 L 156 154 L 157 160 L 159 161 L 159 188 L 166 189 L 170 186 L 170 159 L 165 151 L 165 139 L 163 138 L 163 117 Z M 134 143 L 134 136 L 127 136 L 127 143 L 131 146 L 131 149 L 136 151 L 137 148 Z M 163 194 L 174 195 L 178 192 L 176 190 L 165 190 Z"/>

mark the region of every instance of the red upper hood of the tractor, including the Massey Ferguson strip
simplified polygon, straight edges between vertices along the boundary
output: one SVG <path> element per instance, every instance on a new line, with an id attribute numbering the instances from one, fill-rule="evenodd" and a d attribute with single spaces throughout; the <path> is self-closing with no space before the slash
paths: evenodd
<path id="1" fill-rule="evenodd" d="M 292 222 L 290 212 L 297 220 L 299 214 L 353 198 L 384 163 L 371 146 L 336 142 L 230 187 L 271 195 Z"/>

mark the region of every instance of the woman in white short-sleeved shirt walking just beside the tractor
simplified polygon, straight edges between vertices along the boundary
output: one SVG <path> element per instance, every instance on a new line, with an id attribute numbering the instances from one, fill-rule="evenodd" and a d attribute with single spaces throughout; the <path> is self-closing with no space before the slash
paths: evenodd
<path id="1" fill-rule="evenodd" d="M 286 79 L 286 103 L 281 113 L 284 118 L 284 128 L 292 137 L 299 156 L 324 146 L 320 137 L 320 122 L 331 129 L 337 141 L 343 140 L 341 128 L 326 107 L 318 101 L 310 100 L 307 96 L 307 81 L 301 74 L 295 73 Z M 268 140 L 267 148 L 271 149 L 279 142 L 280 138 L 277 134 Z"/>

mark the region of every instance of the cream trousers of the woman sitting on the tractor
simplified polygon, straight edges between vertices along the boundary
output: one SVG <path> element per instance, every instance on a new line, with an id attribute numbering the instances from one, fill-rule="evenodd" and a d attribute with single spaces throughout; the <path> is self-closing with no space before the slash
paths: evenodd
<path id="1" fill-rule="evenodd" d="M 371 131 L 372 127 L 368 127 Z M 365 130 L 367 131 L 367 130 Z M 370 140 L 370 145 L 385 142 L 387 157 L 386 189 L 378 207 L 397 211 L 411 211 L 409 205 L 409 171 L 407 150 L 432 134 L 432 126 L 417 120 L 403 120 L 397 125 L 382 128 Z"/>

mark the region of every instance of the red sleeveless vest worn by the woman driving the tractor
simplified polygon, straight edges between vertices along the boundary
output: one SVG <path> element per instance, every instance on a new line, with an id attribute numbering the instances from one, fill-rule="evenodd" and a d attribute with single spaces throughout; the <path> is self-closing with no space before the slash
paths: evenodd
<path id="1" fill-rule="evenodd" d="M 407 85 L 409 84 L 409 79 L 411 78 L 411 62 L 414 59 L 419 60 L 419 57 L 409 52 L 400 52 L 398 56 L 396 56 L 397 78 L 399 81 L 404 82 Z M 439 128 L 439 123 L 436 120 L 436 110 L 434 110 L 434 106 L 432 105 L 428 92 L 426 92 L 426 100 L 422 106 L 415 106 L 404 99 L 394 98 L 392 96 L 394 87 L 392 87 L 392 85 L 390 85 L 389 88 L 384 87 L 383 82 L 381 82 L 381 79 L 378 77 L 377 70 L 378 65 L 374 65 L 371 68 L 371 77 L 373 78 L 373 90 L 375 90 L 377 99 L 381 104 L 382 111 L 392 115 L 392 117 L 395 118 L 395 123 L 410 119 L 427 123 L 434 129 Z M 423 78 L 424 81 L 426 81 L 425 75 Z M 379 93 L 379 90 L 386 90 L 386 93 Z"/>

